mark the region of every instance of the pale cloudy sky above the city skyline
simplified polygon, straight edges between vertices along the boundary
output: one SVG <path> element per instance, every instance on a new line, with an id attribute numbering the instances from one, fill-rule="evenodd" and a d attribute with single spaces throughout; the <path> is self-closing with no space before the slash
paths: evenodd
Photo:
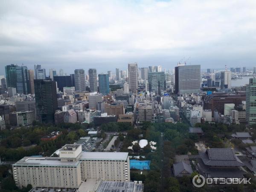
<path id="1" fill-rule="evenodd" d="M 255 10 L 255 0 L 1 0 L 0 75 L 8 64 L 256 67 Z"/>

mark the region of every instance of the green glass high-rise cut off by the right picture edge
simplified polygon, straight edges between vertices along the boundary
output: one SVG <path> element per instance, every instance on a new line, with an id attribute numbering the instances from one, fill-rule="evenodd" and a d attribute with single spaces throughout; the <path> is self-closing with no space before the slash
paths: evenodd
<path id="1" fill-rule="evenodd" d="M 249 125 L 256 124 L 256 78 L 250 78 L 246 85 L 246 121 Z"/>

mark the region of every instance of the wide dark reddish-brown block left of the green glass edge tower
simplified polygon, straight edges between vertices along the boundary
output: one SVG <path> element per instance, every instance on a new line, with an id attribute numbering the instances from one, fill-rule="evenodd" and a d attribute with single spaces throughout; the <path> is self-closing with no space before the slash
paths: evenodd
<path id="1" fill-rule="evenodd" d="M 212 116 L 214 111 L 224 115 L 224 104 L 233 103 L 239 106 L 242 101 L 245 101 L 245 93 L 229 94 L 229 93 L 212 93 L 204 99 L 204 109 L 210 109 Z"/>

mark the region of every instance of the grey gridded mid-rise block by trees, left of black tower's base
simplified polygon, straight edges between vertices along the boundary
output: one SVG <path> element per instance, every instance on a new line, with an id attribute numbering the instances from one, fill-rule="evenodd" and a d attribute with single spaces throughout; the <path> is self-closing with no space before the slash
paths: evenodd
<path id="1" fill-rule="evenodd" d="M 35 119 L 35 111 L 16 112 L 17 113 L 17 125 L 28 126 L 32 125 Z"/>

